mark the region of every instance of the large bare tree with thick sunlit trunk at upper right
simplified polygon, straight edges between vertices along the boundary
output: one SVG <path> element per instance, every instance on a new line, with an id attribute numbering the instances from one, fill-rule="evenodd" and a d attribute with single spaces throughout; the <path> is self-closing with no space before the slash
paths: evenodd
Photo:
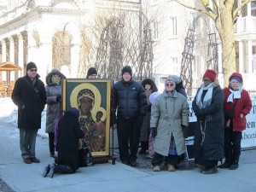
<path id="1" fill-rule="evenodd" d="M 175 1 L 188 9 L 194 9 L 208 15 L 214 21 L 223 49 L 224 85 L 228 84 L 231 73 L 237 71 L 234 25 L 240 15 L 241 8 L 251 0 L 244 0 L 239 5 L 237 0 L 200 0 L 202 8 L 190 6 L 182 0 Z"/>

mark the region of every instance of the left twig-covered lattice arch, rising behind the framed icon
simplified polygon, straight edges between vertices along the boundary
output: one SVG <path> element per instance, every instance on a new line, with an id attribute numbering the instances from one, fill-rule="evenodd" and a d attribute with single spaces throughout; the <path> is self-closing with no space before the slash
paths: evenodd
<path id="1" fill-rule="evenodd" d="M 123 28 L 124 24 L 117 19 L 108 22 L 104 27 L 96 54 L 95 67 L 102 79 L 118 79 L 123 63 Z"/>

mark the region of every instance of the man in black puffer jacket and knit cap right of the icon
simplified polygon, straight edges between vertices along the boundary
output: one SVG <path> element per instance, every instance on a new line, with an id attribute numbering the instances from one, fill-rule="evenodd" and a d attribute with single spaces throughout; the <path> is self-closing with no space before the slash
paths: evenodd
<path id="1" fill-rule="evenodd" d="M 120 160 L 126 165 L 137 166 L 140 127 L 147 113 L 147 97 L 143 86 L 131 76 L 131 67 L 125 66 L 122 80 L 113 84 L 113 123 L 117 119 Z"/>

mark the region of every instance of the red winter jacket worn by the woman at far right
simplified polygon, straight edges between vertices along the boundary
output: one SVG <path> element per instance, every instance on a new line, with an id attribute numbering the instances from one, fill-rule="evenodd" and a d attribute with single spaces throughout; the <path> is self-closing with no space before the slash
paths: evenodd
<path id="1" fill-rule="evenodd" d="M 230 96 L 230 89 L 224 88 L 224 113 L 228 113 L 231 108 L 235 107 L 234 119 L 233 120 L 233 130 L 234 131 L 243 131 L 246 127 L 239 127 L 240 124 L 240 114 L 246 116 L 247 113 L 250 113 L 252 108 L 252 100 L 246 90 L 241 90 L 241 98 L 236 100 L 236 106 L 233 102 L 227 102 L 228 97 Z M 225 115 L 227 116 L 227 115 Z M 225 123 L 228 119 L 225 119 Z"/>

